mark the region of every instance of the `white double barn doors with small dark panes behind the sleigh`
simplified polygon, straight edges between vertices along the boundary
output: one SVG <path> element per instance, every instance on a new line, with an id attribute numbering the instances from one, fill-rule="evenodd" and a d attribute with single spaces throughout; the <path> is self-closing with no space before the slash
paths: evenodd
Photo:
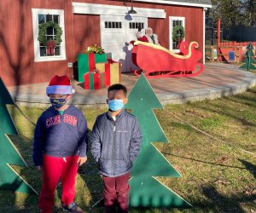
<path id="1" fill-rule="evenodd" d="M 112 53 L 113 60 L 122 63 L 122 72 L 130 72 L 131 67 L 136 67 L 131 61 L 131 50 L 125 43 L 136 41 L 137 29 L 147 26 L 148 19 L 145 17 L 101 15 L 102 48 Z"/>

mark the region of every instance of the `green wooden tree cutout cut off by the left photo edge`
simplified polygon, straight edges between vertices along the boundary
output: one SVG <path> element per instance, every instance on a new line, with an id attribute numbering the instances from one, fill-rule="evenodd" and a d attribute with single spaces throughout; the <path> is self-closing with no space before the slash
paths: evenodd
<path id="1" fill-rule="evenodd" d="M 6 105 L 15 105 L 9 91 L 0 78 L 0 189 L 20 193 L 37 193 L 12 167 L 11 164 L 26 166 L 9 135 L 17 135 L 15 124 L 9 115 Z"/>

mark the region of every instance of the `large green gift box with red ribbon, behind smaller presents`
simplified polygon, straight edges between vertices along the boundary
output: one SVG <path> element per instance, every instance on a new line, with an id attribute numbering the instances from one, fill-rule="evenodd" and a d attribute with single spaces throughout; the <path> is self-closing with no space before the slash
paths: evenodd
<path id="1" fill-rule="evenodd" d="M 97 62 L 106 62 L 109 54 L 80 54 L 78 55 L 78 81 L 84 81 L 84 74 L 93 71 Z"/>

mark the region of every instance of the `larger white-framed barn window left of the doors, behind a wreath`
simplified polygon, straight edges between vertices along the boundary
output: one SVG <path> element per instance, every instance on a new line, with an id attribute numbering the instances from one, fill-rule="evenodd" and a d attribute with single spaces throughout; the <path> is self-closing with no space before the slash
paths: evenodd
<path id="1" fill-rule="evenodd" d="M 32 9 L 33 38 L 35 61 L 66 60 L 65 31 L 64 31 L 64 10 L 61 9 Z M 39 26 L 52 22 L 44 32 L 44 40 L 47 43 L 38 41 Z M 56 27 L 61 27 L 61 43 L 52 43 L 57 36 Z"/>

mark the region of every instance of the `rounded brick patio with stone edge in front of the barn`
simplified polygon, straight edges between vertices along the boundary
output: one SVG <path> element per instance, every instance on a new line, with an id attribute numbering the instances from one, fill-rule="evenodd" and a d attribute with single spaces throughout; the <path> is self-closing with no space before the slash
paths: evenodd
<path id="1" fill-rule="evenodd" d="M 131 91 L 137 81 L 133 74 L 122 74 L 121 82 Z M 235 95 L 256 85 L 256 75 L 245 72 L 238 66 L 207 63 L 204 71 L 194 78 L 156 78 L 148 79 L 162 104 L 183 103 L 185 101 L 201 101 L 215 99 L 225 95 Z M 105 105 L 107 89 L 85 90 L 79 82 L 73 81 L 76 93 L 73 104 L 79 107 Z M 48 83 L 35 83 L 20 87 L 9 87 L 14 100 L 20 104 L 33 103 L 45 105 L 49 98 L 45 95 Z"/>

